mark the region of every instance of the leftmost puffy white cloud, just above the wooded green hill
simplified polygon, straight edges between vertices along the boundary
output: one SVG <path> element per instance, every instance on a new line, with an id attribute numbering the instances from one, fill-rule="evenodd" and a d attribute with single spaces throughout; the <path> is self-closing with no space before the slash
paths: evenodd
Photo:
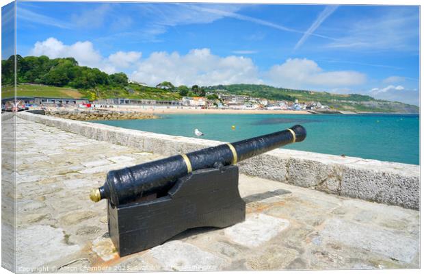
<path id="1" fill-rule="evenodd" d="M 36 56 L 47 55 L 49 58 L 73 57 L 81 66 L 98 68 L 106 73 L 116 73 L 120 69 L 127 69 L 135 65 L 142 57 L 141 52 L 118 51 L 109 55 L 109 58 L 103 58 L 94 49 L 90 41 L 79 41 L 72 45 L 64 45 L 62 41 L 56 38 L 48 38 L 42 42 L 36 42 L 29 54 Z"/>

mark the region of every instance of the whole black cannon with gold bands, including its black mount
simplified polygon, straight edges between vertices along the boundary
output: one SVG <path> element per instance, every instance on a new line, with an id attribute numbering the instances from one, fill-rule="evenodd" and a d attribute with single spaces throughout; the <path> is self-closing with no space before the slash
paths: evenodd
<path id="1" fill-rule="evenodd" d="M 90 199 L 108 199 L 109 234 L 120 256 L 160 245 L 189 228 L 227 227 L 244 221 L 246 213 L 235 164 L 305 138 L 304 127 L 295 125 L 110 171 Z"/>

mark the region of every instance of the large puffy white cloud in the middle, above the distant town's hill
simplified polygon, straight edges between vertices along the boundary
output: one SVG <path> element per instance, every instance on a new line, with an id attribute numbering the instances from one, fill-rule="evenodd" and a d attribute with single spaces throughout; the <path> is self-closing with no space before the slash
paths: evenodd
<path id="1" fill-rule="evenodd" d="M 186 55 L 154 52 L 140 65 L 131 79 L 156 85 L 209 86 L 214 84 L 261 83 L 259 72 L 250 58 L 213 55 L 210 49 L 192 49 Z"/>

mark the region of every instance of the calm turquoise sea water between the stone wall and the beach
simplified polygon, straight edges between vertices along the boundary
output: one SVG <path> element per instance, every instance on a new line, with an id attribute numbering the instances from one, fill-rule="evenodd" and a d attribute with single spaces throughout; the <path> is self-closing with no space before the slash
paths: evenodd
<path id="1" fill-rule="evenodd" d="M 297 149 L 389 162 L 419 164 L 418 114 L 282 115 L 282 114 L 172 114 L 157 120 L 94 121 L 116 127 L 174 136 L 234 142 L 276 132 L 295 124 L 308 132 Z M 232 130 L 231 126 L 236 129 Z M 196 137 L 199 138 L 199 137 Z"/>

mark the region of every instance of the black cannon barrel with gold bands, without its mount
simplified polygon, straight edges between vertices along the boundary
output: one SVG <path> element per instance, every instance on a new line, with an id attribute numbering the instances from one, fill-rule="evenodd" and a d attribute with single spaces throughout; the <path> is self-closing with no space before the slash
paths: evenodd
<path id="1" fill-rule="evenodd" d="M 302 125 L 295 125 L 280 132 L 109 171 L 105 184 L 91 190 L 90 199 L 109 199 L 114 206 L 131 203 L 147 195 L 168 190 L 176 179 L 192 171 L 212 168 L 217 164 L 236 164 L 283 145 L 302 142 L 305 138 L 306 129 Z"/>

